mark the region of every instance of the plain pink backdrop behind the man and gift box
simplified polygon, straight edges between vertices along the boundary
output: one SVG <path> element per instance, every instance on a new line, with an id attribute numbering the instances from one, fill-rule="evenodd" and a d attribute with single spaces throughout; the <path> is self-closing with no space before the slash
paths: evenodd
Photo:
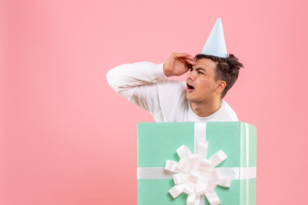
<path id="1" fill-rule="evenodd" d="M 225 100 L 258 128 L 257 204 L 307 203 L 307 8 L 0 0 L 0 205 L 136 205 L 136 123 L 154 120 L 106 72 L 198 54 L 218 16 L 245 65 Z"/>

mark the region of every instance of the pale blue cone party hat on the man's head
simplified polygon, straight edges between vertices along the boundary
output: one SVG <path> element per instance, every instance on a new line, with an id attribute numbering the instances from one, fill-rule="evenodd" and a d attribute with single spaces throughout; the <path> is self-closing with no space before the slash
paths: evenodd
<path id="1" fill-rule="evenodd" d="M 224 41 L 221 19 L 218 17 L 201 54 L 228 58 L 226 42 Z"/>

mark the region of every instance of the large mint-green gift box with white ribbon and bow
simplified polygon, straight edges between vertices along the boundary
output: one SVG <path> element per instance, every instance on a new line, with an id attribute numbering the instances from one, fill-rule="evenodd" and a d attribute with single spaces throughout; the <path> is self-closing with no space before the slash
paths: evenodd
<path id="1" fill-rule="evenodd" d="M 255 126 L 239 121 L 138 123 L 137 136 L 138 205 L 256 204 Z M 191 151 L 189 157 L 187 157 L 187 153 L 190 153 L 188 149 Z M 197 152 L 200 152 L 200 156 Z M 215 162 L 217 157 L 221 159 Z M 199 159 L 196 165 L 198 169 L 187 171 L 187 163 L 193 163 L 194 159 Z M 170 167 L 170 163 L 176 165 L 172 171 L 167 168 Z M 195 167 L 195 164 L 189 166 Z M 208 171 L 209 166 L 215 166 L 214 171 Z M 177 174 L 181 173 L 178 168 L 182 169 L 180 174 L 183 175 L 182 179 L 178 178 Z M 186 173 L 183 172 L 185 169 Z M 209 173 L 214 173 L 213 177 L 218 181 L 230 179 L 229 187 L 225 185 L 228 182 L 222 182 L 224 186 L 219 183 L 212 184 L 213 186 L 207 184 L 207 177 L 212 177 L 208 176 Z M 217 173 L 220 176 L 216 176 Z M 201 176 L 204 180 L 200 179 Z M 187 180 L 187 183 L 183 180 Z M 204 192 L 202 192 L 203 185 L 198 185 L 200 180 L 206 182 L 207 189 L 204 189 Z M 193 193 L 189 192 L 187 187 L 183 193 L 181 192 L 182 194 L 179 194 L 179 188 L 183 189 L 185 184 L 188 185 L 188 181 L 197 184 L 190 184 L 190 188 L 197 190 L 199 194 L 194 193 L 192 196 Z M 208 179 L 209 183 L 212 181 L 213 178 Z M 210 189 L 215 189 L 213 193 L 219 198 L 218 202 L 212 198 L 213 193 L 210 193 Z M 175 192 L 177 193 L 174 194 Z"/>

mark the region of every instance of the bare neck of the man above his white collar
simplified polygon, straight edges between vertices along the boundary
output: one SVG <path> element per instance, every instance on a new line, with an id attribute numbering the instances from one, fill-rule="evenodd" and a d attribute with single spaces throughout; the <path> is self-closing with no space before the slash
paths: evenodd
<path id="1" fill-rule="evenodd" d="M 217 99 L 215 102 L 189 102 L 191 110 L 199 117 L 208 117 L 216 113 L 221 107 L 221 100 Z"/>

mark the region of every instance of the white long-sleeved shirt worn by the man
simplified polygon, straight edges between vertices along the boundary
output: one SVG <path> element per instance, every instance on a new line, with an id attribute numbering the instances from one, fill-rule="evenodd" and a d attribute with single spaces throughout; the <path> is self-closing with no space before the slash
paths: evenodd
<path id="1" fill-rule="evenodd" d="M 163 64 L 143 61 L 119 65 L 108 71 L 107 82 L 128 101 L 149 111 L 156 122 L 238 121 L 224 100 L 213 115 L 196 115 L 186 99 L 185 82 L 168 79 Z"/>

